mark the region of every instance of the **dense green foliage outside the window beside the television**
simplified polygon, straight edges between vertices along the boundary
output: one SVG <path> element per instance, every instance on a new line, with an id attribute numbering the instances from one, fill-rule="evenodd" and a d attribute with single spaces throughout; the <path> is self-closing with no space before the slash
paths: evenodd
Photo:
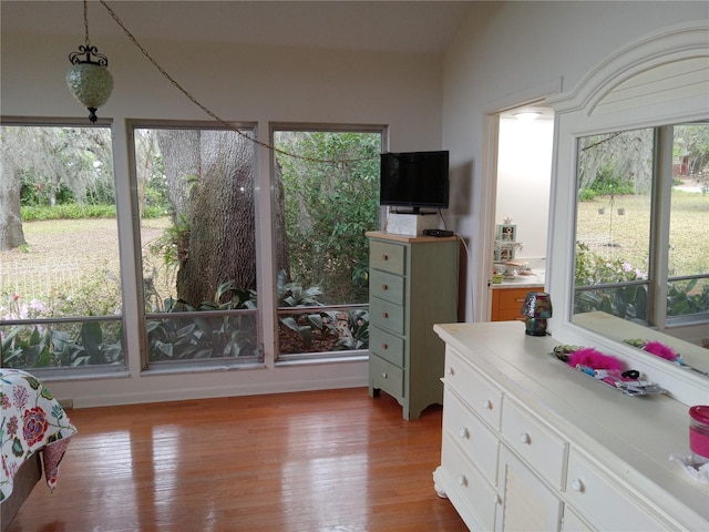
<path id="1" fill-rule="evenodd" d="M 368 300 L 367 231 L 379 226 L 379 133 L 279 132 L 289 278 L 326 304 Z M 338 161 L 337 163 L 320 161 Z"/>

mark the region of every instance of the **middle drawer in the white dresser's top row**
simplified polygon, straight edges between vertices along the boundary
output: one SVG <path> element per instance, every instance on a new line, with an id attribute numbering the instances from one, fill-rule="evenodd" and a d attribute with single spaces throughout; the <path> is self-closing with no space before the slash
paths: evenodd
<path id="1" fill-rule="evenodd" d="M 555 488 L 562 489 L 568 443 L 517 402 L 505 399 L 502 436 Z"/>

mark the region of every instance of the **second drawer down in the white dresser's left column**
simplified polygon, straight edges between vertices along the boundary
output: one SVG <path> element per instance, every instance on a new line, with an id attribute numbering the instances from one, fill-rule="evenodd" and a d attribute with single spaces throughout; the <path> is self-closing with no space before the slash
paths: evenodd
<path id="1" fill-rule="evenodd" d="M 497 484 L 497 437 L 463 405 L 455 392 L 445 388 L 443 430 L 493 485 Z"/>

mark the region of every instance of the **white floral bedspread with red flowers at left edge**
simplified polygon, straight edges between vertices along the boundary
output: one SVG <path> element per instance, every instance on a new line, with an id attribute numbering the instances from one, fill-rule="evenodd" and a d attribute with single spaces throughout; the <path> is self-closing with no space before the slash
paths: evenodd
<path id="1" fill-rule="evenodd" d="M 0 368 L 0 501 L 10 497 L 20 466 L 35 452 L 41 453 L 47 485 L 53 490 L 59 462 L 76 428 L 52 393 L 25 371 Z"/>

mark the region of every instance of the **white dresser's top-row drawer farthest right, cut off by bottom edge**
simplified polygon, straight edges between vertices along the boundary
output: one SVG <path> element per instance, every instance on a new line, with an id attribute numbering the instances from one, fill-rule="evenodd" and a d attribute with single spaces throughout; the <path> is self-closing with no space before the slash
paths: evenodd
<path id="1" fill-rule="evenodd" d="M 675 523 L 664 522 L 651 508 L 628 497 L 627 492 L 628 490 L 612 481 L 602 470 L 572 449 L 568 457 L 566 498 L 594 528 L 624 532 L 677 528 Z"/>

